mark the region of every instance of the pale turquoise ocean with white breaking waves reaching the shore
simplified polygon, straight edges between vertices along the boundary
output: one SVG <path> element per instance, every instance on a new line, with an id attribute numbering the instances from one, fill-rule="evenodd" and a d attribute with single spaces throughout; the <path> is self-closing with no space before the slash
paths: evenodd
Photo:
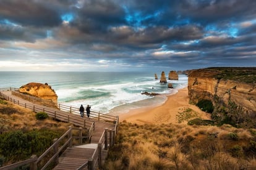
<path id="1" fill-rule="evenodd" d="M 168 78 L 168 71 L 165 72 Z M 161 84 L 160 73 L 145 72 L 23 72 L 0 71 L 0 87 L 20 87 L 27 83 L 48 83 L 58 95 L 59 103 L 79 107 L 91 105 L 92 110 L 102 113 L 126 113 L 135 108 L 161 105 L 178 89 L 187 87 L 187 76 L 179 80 L 167 80 Z M 141 92 L 156 92 L 150 97 Z"/>

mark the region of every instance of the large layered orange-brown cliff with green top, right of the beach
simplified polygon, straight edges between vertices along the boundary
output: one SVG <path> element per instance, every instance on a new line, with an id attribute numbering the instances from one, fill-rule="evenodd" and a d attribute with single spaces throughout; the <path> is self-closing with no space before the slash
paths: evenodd
<path id="1" fill-rule="evenodd" d="M 256 68 L 205 68 L 189 74 L 189 100 L 213 103 L 212 118 L 256 127 Z"/>

